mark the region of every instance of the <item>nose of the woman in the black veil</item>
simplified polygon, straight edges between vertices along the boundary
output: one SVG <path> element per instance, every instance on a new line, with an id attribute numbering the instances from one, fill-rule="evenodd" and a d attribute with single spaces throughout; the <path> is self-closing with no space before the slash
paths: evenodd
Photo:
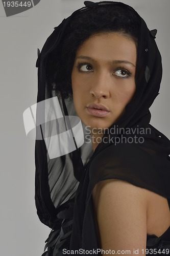
<path id="1" fill-rule="evenodd" d="M 90 95 L 95 98 L 108 98 L 110 96 L 109 84 L 110 78 L 108 74 L 105 72 L 96 74 L 91 83 Z"/>

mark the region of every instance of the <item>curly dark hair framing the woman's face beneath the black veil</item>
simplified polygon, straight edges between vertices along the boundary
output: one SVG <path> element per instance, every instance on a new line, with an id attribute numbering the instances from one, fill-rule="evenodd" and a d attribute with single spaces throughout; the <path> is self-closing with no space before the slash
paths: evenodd
<path id="1" fill-rule="evenodd" d="M 48 84 L 67 98 L 72 93 L 71 71 L 76 52 L 86 39 L 102 32 L 119 32 L 137 43 L 138 31 L 139 18 L 135 11 L 121 3 L 99 5 L 79 12 L 65 29 L 60 45 L 49 54 Z"/>

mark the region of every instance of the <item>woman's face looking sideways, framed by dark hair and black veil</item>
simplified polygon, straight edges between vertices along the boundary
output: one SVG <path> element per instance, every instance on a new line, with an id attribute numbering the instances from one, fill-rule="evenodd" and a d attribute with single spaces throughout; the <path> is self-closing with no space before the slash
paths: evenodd
<path id="1" fill-rule="evenodd" d="M 93 35 L 78 49 L 72 69 L 76 112 L 91 129 L 117 121 L 135 93 L 136 45 L 120 33 Z"/>

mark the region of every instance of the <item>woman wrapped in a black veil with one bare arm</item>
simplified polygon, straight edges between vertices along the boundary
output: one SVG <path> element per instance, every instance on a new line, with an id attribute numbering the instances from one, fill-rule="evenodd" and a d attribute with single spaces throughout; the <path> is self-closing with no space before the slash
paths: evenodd
<path id="1" fill-rule="evenodd" d="M 52 228 L 43 255 L 168 254 L 170 144 L 149 124 L 156 30 L 125 4 L 85 6 L 37 60 L 35 199 Z"/>

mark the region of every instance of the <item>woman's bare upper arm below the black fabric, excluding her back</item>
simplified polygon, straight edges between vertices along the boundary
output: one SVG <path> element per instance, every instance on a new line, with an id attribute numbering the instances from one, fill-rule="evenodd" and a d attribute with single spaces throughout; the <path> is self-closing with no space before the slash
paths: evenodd
<path id="1" fill-rule="evenodd" d="M 133 249 L 139 249 L 138 255 L 143 255 L 141 249 L 145 250 L 147 242 L 147 190 L 112 179 L 96 184 L 92 198 L 101 248 L 130 250 L 130 255 L 136 255 Z"/>

